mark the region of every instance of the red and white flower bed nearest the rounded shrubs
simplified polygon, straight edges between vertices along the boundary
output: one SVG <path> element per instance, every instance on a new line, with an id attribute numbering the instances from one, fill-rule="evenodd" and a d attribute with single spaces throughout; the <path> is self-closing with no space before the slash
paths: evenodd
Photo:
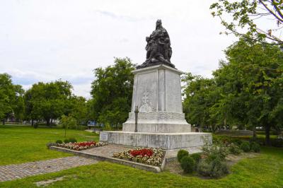
<path id="1" fill-rule="evenodd" d="M 164 151 L 156 148 L 134 148 L 119 153 L 113 153 L 114 158 L 133 160 L 146 165 L 160 166 L 163 160 Z"/>

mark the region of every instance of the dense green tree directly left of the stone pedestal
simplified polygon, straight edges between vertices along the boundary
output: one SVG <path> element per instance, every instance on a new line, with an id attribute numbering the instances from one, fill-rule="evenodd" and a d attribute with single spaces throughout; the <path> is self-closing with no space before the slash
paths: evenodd
<path id="1" fill-rule="evenodd" d="M 91 113 L 98 122 L 118 127 L 126 121 L 131 109 L 134 65 L 129 58 L 115 58 L 114 63 L 94 71 Z"/>

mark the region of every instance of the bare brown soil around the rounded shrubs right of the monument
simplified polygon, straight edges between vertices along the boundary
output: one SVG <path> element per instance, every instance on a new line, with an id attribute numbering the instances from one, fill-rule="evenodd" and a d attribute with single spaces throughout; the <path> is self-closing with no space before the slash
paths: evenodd
<path id="1" fill-rule="evenodd" d="M 260 155 L 260 153 L 241 153 L 240 155 L 230 154 L 226 157 L 226 162 L 227 162 L 227 165 L 231 166 L 231 165 L 234 165 L 235 163 L 238 163 L 239 160 L 242 160 L 244 158 L 254 158 L 258 155 Z M 166 162 L 164 171 L 171 172 L 173 174 L 178 174 L 178 175 L 185 175 L 177 159 Z M 207 179 L 206 177 L 201 177 L 201 178 Z"/>

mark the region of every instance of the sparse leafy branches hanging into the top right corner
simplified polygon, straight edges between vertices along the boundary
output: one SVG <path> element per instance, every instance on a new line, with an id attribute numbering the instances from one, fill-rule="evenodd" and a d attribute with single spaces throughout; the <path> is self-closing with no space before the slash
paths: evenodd
<path id="1" fill-rule="evenodd" d="M 280 0 L 218 0 L 212 4 L 212 16 L 217 16 L 226 28 L 226 34 L 233 33 L 253 42 L 283 45 L 281 37 L 283 23 L 283 2 Z"/>

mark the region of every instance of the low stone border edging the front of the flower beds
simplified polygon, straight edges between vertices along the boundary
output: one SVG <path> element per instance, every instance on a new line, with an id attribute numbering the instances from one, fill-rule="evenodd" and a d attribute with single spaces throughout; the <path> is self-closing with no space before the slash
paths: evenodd
<path id="1" fill-rule="evenodd" d="M 161 167 L 159 168 L 159 167 L 156 167 L 156 166 L 145 165 L 143 163 L 136 163 L 136 162 L 133 162 L 133 161 L 123 160 L 123 159 L 119 159 L 119 158 L 109 158 L 109 157 L 100 156 L 100 155 L 93 155 L 93 154 L 90 154 L 90 153 L 83 153 L 81 151 L 74 151 L 74 150 L 71 150 L 71 149 L 68 149 L 68 148 L 60 148 L 60 147 L 57 147 L 57 146 L 50 146 L 50 149 L 54 150 L 54 151 L 62 151 L 62 152 L 65 152 L 65 153 L 71 153 L 71 154 L 74 154 L 74 155 L 83 156 L 85 158 L 105 160 L 105 161 L 109 161 L 111 163 L 118 163 L 118 164 L 121 164 L 121 165 L 127 165 L 127 166 L 130 166 L 130 167 L 133 167 L 133 168 L 138 168 L 138 169 L 141 169 L 141 170 L 147 170 L 147 171 L 150 171 L 150 172 L 161 172 L 161 170 L 164 169 L 165 164 L 166 164 L 166 158 L 165 157 L 163 158 L 163 162 L 161 164 Z"/>

